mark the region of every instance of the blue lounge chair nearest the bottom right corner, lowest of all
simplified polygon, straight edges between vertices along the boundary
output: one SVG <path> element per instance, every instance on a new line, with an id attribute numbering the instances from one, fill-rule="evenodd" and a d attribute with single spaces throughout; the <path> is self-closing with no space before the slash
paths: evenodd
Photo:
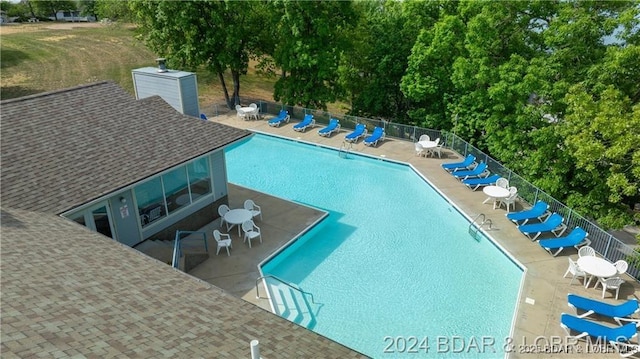
<path id="1" fill-rule="evenodd" d="M 627 323 L 612 328 L 584 318 L 574 317 L 571 314 L 562 313 L 560 316 L 560 326 L 567 332 L 570 338 L 575 340 L 590 336 L 598 338 L 604 341 L 604 343 L 609 343 L 616 348 L 622 357 L 628 357 L 638 352 L 638 344 L 631 344 L 629 342 L 638 335 L 638 323 Z M 580 334 L 571 335 L 572 330 Z"/>

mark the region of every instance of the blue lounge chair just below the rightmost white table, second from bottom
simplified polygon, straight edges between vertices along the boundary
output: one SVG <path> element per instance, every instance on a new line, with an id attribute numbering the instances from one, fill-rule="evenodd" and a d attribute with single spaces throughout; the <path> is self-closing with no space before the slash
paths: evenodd
<path id="1" fill-rule="evenodd" d="M 578 318 L 586 318 L 591 314 L 598 314 L 613 318 L 620 325 L 622 325 L 622 322 L 637 323 L 640 321 L 638 318 L 631 318 L 632 315 L 640 313 L 640 305 L 636 298 L 621 304 L 609 304 L 576 294 L 569 294 L 567 295 L 567 300 L 569 306 L 576 308 L 576 311 L 578 309 L 584 311 L 584 313 L 578 315 Z"/>

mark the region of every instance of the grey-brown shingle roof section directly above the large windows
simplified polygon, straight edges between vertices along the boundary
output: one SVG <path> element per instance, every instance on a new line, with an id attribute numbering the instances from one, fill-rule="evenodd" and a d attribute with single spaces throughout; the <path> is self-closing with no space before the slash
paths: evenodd
<path id="1" fill-rule="evenodd" d="M 99 82 L 0 102 L 4 207 L 61 213 L 249 136 Z"/>

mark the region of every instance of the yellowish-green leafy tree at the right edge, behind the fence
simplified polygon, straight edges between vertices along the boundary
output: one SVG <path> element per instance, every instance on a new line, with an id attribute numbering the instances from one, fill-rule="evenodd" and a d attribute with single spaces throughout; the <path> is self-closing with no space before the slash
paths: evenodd
<path id="1" fill-rule="evenodd" d="M 560 129 L 579 175 L 568 204 L 606 227 L 631 222 L 640 201 L 640 104 L 613 86 L 590 95 L 571 87 Z"/>

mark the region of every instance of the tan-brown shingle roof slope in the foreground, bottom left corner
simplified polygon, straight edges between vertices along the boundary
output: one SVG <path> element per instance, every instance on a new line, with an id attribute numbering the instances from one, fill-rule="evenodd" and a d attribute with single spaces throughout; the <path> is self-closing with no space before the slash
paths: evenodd
<path id="1" fill-rule="evenodd" d="M 361 358 L 53 214 L 2 209 L 3 358 Z"/>

